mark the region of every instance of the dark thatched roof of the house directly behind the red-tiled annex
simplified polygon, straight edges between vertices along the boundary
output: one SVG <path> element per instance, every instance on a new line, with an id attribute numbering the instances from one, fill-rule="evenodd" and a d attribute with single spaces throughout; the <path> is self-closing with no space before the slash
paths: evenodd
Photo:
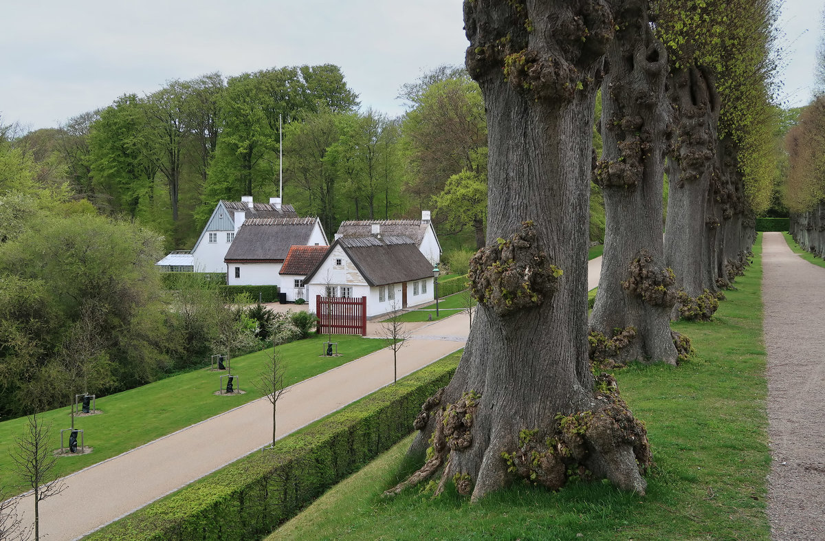
<path id="1" fill-rule="evenodd" d="M 284 261 L 294 245 L 305 245 L 317 218 L 247 219 L 226 252 L 227 263 Z"/>

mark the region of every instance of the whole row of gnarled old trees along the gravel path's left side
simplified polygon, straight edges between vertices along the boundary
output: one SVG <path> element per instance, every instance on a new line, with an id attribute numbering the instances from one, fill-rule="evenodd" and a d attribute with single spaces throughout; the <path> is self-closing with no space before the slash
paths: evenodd
<path id="1" fill-rule="evenodd" d="M 479 308 L 454 379 L 417 420 L 426 463 L 396 490 L 437 474 L 436 492 L 451 479 L 475 500 L 514 478 L 592 475 L 644 492 L 646 431 L 588 356 L 589 182 L 607 213 L 592 325 L 634 326 L 634 358 L 675 364 L 672 307 L 728 284 L 770 198 L 774 17 L 761 0 L 464 2 L 488 125 Z"/>

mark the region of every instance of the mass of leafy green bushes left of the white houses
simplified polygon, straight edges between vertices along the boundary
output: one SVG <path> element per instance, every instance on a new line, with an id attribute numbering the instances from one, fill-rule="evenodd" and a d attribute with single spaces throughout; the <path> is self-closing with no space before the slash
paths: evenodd
<path id="1" fill-rule="evenodd" d="M 211 350 L 257 346 L 254 322 L 214 285 L 163 291 L 158 233 L 99 214 L 73 193 L 66 167 L 37 162 L 15 131 L 0 126 L 2 418 L 133 388 Z"/>

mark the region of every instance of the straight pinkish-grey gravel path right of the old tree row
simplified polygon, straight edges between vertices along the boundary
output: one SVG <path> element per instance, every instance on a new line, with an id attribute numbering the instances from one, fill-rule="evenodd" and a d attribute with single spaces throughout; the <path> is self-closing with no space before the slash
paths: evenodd
<path id="1" fill-rule="evenodd" d="M 771 539 L 825 539 L 825 269 L 764 233 Z"/>

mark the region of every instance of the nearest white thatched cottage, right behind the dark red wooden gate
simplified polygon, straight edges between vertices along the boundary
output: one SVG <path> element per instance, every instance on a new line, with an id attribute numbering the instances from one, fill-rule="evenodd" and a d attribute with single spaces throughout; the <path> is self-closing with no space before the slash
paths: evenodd
<path id="1" fill-rule="evenodd" d="M 404 236 L 342 237 L 304 279 L 309 311 L 316 296 L 366 297 L 366 316 L 434 302 L 432 264 Z"/>

